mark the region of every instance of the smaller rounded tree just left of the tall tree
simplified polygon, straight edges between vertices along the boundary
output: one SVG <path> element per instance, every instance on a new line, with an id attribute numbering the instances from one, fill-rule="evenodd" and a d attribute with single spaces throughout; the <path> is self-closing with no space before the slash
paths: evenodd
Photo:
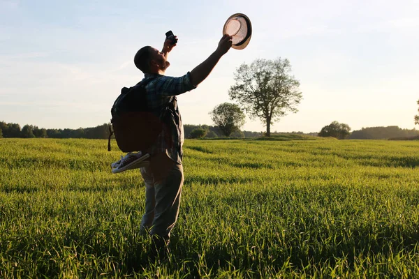
<path id="1" fill-rule="evenodd" d="M 229 137 L 233 132 L 240 130 L 244 125 L 246 115 L 238 105 L 222 103 L 210 112 L 211 119 L 221 132 Z"/>

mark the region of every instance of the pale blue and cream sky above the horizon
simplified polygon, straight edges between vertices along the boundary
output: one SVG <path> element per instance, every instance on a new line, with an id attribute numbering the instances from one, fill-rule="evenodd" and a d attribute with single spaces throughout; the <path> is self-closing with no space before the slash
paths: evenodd
<path id="1" fill-rule="evenodd" d="M 42 128 L 108 122 L 120 89 L 143 77 L 133 64 L 140 47 L 161 49 L 172 30 L 179 43 L 166 75 L 184 75 L 216 49 L 233 13 L 250 18 L 251 41 L 179 96 L 184 123 L 212 125 L 208 112 L 231 102 L 240 64 L 281 57 L 291 61 L 303 100 L 272 131 L 318 132 L 332 121 L 353 130 L 415 127 L 419 0 L 0 0 L 0 121 Z M 247 119 L 243 130 L 265 127 Z"/>

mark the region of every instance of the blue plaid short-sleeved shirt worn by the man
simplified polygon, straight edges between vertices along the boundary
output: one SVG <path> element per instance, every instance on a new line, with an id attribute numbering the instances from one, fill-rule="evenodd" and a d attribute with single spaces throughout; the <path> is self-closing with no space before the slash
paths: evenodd
<path id="1" fill-rule="evenodd" d="M 151 80 L 151 81 L 150 81 Z M 153 146 L 148 150 L 150 155 L 156 153 L 166 153 L 170 159 L 177 163 L 182 163 L 182 145 L 184 142 L 184 128 L 182 117 L 177 107 L 176 96 L 186 91 L 196 89 L 191 84 L 190 73 L 182 77 L 167 77 L 166 75 L 145 74 L 142 82 L 147 82 L 145 86 L 147 91 L 147 106 L 156 112 L 163 112 L 172 98 L 172 108 L 163 123 L 166 130 L 157 138 Z"/>

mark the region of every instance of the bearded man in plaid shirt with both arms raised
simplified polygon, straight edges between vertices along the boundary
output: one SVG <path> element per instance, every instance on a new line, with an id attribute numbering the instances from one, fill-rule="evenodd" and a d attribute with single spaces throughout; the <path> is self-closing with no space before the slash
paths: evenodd
<path id="1" fill-rule="evenodd" d="M 191 72 L 182 77 L 164 75 L 170 63 L 168 54 L 175 47 L 166 39 L 163 50 L 142 47 L 134 57 L 135 66 L 145 74 L 142 82 L 147 82 L 147 105 L 163 114 L 163 129 L 155 144 L 147 150 L 150 154 L 149 167 L 140 169 L 145 181 L 145 214 L 142 216 L 140 232 L 152 235 L 152 257 L 163 257 L 168 252 L 170 232 L 179 213 L 180 196 L 184 174 L 182 168 L 182 144 L 184 130 L 177 107 L 176 96 L 191 91 L 210 75 L 221 56 L 232 45 L 232 37 L 225 35 L 216 50 Z"/>

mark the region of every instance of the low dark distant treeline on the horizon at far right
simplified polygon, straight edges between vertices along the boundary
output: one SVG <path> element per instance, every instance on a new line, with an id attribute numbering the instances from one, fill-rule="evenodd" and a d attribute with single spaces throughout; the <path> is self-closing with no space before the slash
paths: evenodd
<path id="1" fill-rule="evenodd" d="M 399 126 L 369 127 L 361 130 L 354 130 L 347 137 L 348 140 L 388 140 L 394 137 L 409 138 L 419 135 L 419 130 L 402 129 Z"/>

